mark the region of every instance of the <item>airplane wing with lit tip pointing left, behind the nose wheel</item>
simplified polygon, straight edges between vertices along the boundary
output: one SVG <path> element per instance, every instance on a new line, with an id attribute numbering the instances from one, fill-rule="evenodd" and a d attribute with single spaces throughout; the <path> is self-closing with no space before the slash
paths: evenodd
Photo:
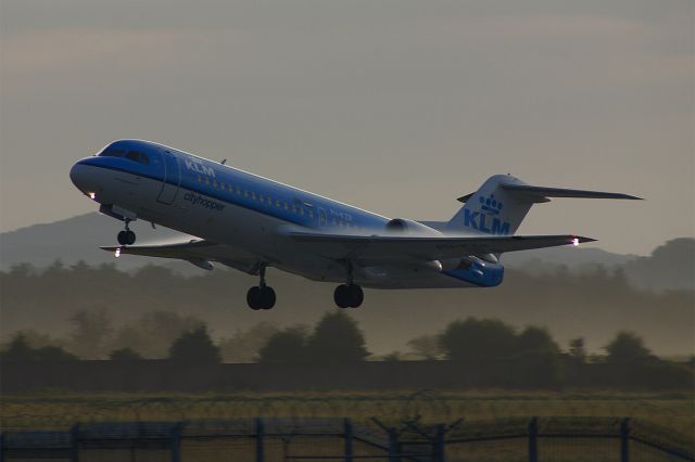
<path id="1" fill-rule="evenodd" d="M 144 257 L 174 258 L 189 261 L 210 270 L 211 261 L 217 261 L 240 271 L 255 273 L 258 258 L 248 252 L 205 240 L 190 240 L 172 244 L 128 245 L 100 247 L 116 255 L 140 255 Z"/>

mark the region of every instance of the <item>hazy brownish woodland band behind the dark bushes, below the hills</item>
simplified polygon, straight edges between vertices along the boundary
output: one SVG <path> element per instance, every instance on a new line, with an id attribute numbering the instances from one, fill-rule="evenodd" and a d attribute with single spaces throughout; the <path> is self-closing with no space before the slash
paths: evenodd
<path id="1" fill-rule="evenodd" d="M 117 346 L 114 337 L 119 336 L 125 346 L 139 342 L 136 349 L 150 358 L 165 356 L 173 341 L 169 332 L 157 331 L 156 325 L 178 320 L 159 322 L 150 317 L 142 324 L 142 313 L 176 313 L 189 321 L 204 319 L 214 326 L 216 338 L 231 339 L 239 330 L 249 331 L 260 319 L 271 319 L 279 325 L 313 324 L 332 309 L 330 284 L 274 269 L 268 278 L 282 294 L 281 303 L 271 313 L 258 313 L 245 307 L 244 298 L 248 287 L 257 281 L 238 271 L 216 269 L 182 277 L 161 266 L 125 272 L 111 265 L 84 262 L 66 266 L 56 261 L 43 269 L 17 265 L 0 271 L 0 325 L 5 337 L 27 329 L 66 337 L 74 329 L 68 321 L 71 316 L 103 311 L 111 321 L 111 331 L 99 335 L 103 342 L 98 348 L 90 345 L 76 352 L 85 358 L 106 357 Z M 369 291 L 367 304 L 353 315 L 369 338 L 379 338 L 382 349 L 403 349 L 406 342 L 442 329 L 463 312 L 500 318 L 516 325 L 546 325 L 563 344 L 583 334 L 592 349 L 626 329 L 648 338 L 655 351 L 685 354 L 695 330 L 694 304 L 695 291 L 637 290 L 627 284 L 620 271 L 601 267 L 581 273 L 558 269 L 543 274 L 509 269 L 505 283 L 493 291 Z M 130 328 L 128 332 L 121 332 L 124 326 Z M 150 335 L 151 339 L 142 344 L 140 338 L 146 334 L 156 335 Z M 223 358 L 232 360 L 225 350 Z"/>

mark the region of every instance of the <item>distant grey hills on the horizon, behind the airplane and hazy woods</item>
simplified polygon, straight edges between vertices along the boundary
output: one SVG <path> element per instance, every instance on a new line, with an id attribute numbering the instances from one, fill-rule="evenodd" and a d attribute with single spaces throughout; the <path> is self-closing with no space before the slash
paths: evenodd
<path id="1" fill-rule="evenodd" d="M 114 244 L 122 224 L 98 213 L 79 215 L 52 223 L 34 224 L 0 234 L 0 269 L 13 265 L 30 264 L 37 268 L 51 265 L 56 259 L 66 265 L 85 260 L 90 266 L 115 264 L 129 271 L 143 265 L 156 264 L 178 272 L 200 274 L 201 270 L 185 262 L 146 257 L 114 258 L 99 249 L 100 245 Z M 189 236 L 167 228 L 152 229 L 150 223 L 136 221 L 132 229 L 138 243 L 185 240 Z M 641 288 L 692 290 L 695 285 L 695 239 L 680 238 L 657 247 L 652 256 L 640 257 L 606 252 L 599 248 L 553 247 L 506 254 L 504 264 L 527 272 L 556 271 L 565 266 L 569 271 L 581 271 L 597 265 L 609 270 L 622 268 L 629 282 Z"/>

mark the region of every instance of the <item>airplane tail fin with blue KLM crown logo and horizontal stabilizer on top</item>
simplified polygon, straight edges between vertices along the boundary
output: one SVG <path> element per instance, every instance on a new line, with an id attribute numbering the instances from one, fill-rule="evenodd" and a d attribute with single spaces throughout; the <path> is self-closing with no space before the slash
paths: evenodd
<path id="1" fill-rule="evenodd" d="M 602 191 L 533 187 L 510 175 L 495 175 L 475 193 L 458 198 L 464 206 L 448 221 L 446 231 L 513 235 L 531 206 L 549 202 L 549 197 L 640 198 Z"/>

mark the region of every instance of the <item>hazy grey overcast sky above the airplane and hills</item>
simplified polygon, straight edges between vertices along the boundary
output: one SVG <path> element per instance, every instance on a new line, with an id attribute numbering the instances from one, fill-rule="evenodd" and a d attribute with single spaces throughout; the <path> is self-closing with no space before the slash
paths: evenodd
<path id="1" fill-rule="evenodd" d="M 556 200 L 520 233 L 695 235 L 692 0 L 0 8 L 2 231 L 92 210 L 71 165 L 141 138 L 391 217 L 511 172 L 647 198 Z"/>

